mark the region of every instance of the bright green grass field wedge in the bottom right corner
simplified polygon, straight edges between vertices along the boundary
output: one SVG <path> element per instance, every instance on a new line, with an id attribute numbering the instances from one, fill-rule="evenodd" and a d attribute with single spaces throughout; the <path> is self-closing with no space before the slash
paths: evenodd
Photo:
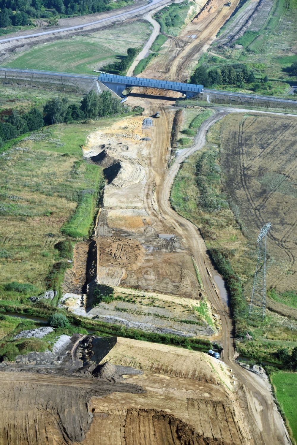
<path id="1" fill-rule="evenodd" d="M 271 380 L 277 401 L 289 422 L 292 436 L 297 441 L 297 372 L 276 372 Z"/>

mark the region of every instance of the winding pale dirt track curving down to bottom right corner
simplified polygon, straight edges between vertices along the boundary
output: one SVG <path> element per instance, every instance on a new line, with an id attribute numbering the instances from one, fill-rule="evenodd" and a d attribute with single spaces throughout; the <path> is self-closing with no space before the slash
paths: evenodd
<path id="1" fill-rule="evenodd" d="M 202 148 L 205 142 L 205 136 L 207 129 L 218 119 L 221 119 L 228 112 L 220 111 L 214 116 L 210 117 L 200 127 L 199 133 L 195 138 L 195 145 L 188 150 L 184 150 L 175 161 L 175 164 L 171 166 L 164 178 L 162 186 L 157 192 L 158 204 L 163 218 L 167 223 L 175 226 L 175 230 L 180 233 L 181 236 L 187 240 L 187 244 L 191 249 L 196 263 L 198 264 L 203 286 L 207 291 L 207 295 L 212 303 L 212 306 L 216 308 L 216 311 L 220 314 L 223 324 L 223 345 L 224 345 L 224 361 L 236 374 L 239 381 L 243 385 L 243 392 L 246 396 L 246 403 L 248 406 L 248 413 L 250 418 L 250 427 L 253 430 L 253 437 L 256 444 L 289 444 L 289 438 L 284 427 L 280 414 L 277 411 L 277 407 L 273 401 L 273 396 L 269 387 L 263 380 L 251 375 L 239 365 L 233 361 L 234 345 L 232 334 L 232 320 L 230 318 L 228 308 L 220 300 L 214 290 L 214 283 L 210 276 L 207 274 L 205 265 L 212 271 L 212 275 L 215 272 L 212 269 L 212 264 L 206 253 L 206 246 L 201 239 L 197 228 L 176 214 L 171 208 L 169 202 L 169 194 L 171 185 L 173 183 L 175 174 L 179 170 L 180 163 L 189 154 L 195 150 Z M 161 116 L 162 119 L 163 116 Z M 162 121 L 159 123 L 162 125 Z M 165 135 L 164 135 L 165 137 Z M 164 141 L 166 143 L 166 141 Z"/>

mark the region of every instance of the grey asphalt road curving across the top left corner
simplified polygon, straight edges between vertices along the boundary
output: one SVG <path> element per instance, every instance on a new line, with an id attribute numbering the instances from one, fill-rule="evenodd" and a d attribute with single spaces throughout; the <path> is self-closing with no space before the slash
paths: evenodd
<path id="1" fill-rule="evenodd" d="M 94 22 L 89 22 L 89 23 L 83 23 L 80 25 L 75 25 L 75 26 L 70 26 L 69 28 L 59 28 L 59 29 L 52 29 L 51 31 L 42 31 L 42 32 L 35 32 L 34 34 L 24 34 L 24 35 L 20 35 L 18 34 L 15 37 L 8 37 L 6 39 L 0 39 L 0 43 L 4 43 L 4 42 L 10 42 L 12 40 L 20 40 L 20 39 L 28 39 L 30 37 L 37 37 L 37 36 L 45 36 L 46 34 L 56 34 L 57 32 L 63 32 L 63 31 L 72 31 L 74 29 L 79 29 L 79 28 L 85 28 L 87 26 L 91 26 L 97 23 L 102 23 L 108 20 L 114 20 L 123 16 L 127 16 L 130 14 L 135 14 L 136 12 L 140 12 L 140 11 L 144 11 L 145 9 L 151 8 L 153 5 L 157 5 L 159 3 L 161 3 L 163 0 L 151 0 L 150 3 L 145 4 L 144 6 L 140 6 L 138 8 L 135 9 L 131 9 L 130 11 L 125 11 L 125 12 L 121 12 L 120 14 L 114 14 L 113 16 L 108 16 L 108 17 L 104 17 L 103 19 L 100 20 L 95 20 Z"/>

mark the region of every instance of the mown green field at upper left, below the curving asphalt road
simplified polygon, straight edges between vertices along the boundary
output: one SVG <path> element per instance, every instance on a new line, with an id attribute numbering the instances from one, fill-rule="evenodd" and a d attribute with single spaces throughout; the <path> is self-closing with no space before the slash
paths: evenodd
<path id="1" fill-rule="evenodd" d="M 115 33 L 117 37 L 115 38 Z M 120 61 L 129 47 L 140 47 L 150 36 L 149 24 L 142 21 L 116 25 L 98 33 L 73 36 L 12 56 L 9 68 L 43 69 L 67 73 L 94 74 L 94 69 Z"/>

